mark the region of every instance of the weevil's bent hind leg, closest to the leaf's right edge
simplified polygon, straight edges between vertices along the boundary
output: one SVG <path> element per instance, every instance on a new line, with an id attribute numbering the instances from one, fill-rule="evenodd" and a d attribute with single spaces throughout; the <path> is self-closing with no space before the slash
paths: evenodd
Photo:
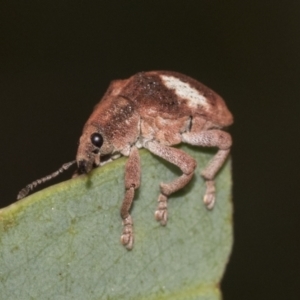
<path id="1" fill-rule="evenodd" d="M 204 195 L 204 203 L 208 209 L 212 209 L 215 204 L 215 182 L 214 178 L 219 169 L 224 164 L 232 144 L 229 133 L 211 129 L 207 131 L 186 132 L 182 134 L 182 141 L 191 145 L 202 147 L 218 147 L 217 154 L 208 163 L 207 167 L 201 172 L 202 177 L 206 181 L 206 192 Z"/>

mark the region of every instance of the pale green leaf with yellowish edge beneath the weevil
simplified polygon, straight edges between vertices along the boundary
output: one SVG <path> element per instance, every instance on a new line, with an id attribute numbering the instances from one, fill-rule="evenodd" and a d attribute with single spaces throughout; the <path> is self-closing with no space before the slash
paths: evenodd
<path id="1" fill-rule="evenodd" d="M 214 153 L 181 148 L 198 167 L 170 197 L 165 227 L 154 219 L 159 183 L 180 171 L 140 151 L 132 251 L 120 244 L 125 158 L 0 210 L 0 299 L 220 299 L 232 246 L 230 161 L 208 211 L 199 174 Z"/>

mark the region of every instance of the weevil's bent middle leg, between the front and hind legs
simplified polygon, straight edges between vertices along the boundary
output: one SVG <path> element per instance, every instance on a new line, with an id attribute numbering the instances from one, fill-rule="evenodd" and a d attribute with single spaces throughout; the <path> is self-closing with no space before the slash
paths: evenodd
<path id="1" fill-rule="evenodd" d="M 180 190 L 192 179 L 196 168 L 196 161 L 180 149 L 171 148 L 155 141 L 146 142 L 144 145 L 150 152 L 178 166 L 183 174 L 170 183 L 160 184 L 160 195 L 155 218 L 161 225 L 166 225 L 168 220 L 168 196 Z"/>

